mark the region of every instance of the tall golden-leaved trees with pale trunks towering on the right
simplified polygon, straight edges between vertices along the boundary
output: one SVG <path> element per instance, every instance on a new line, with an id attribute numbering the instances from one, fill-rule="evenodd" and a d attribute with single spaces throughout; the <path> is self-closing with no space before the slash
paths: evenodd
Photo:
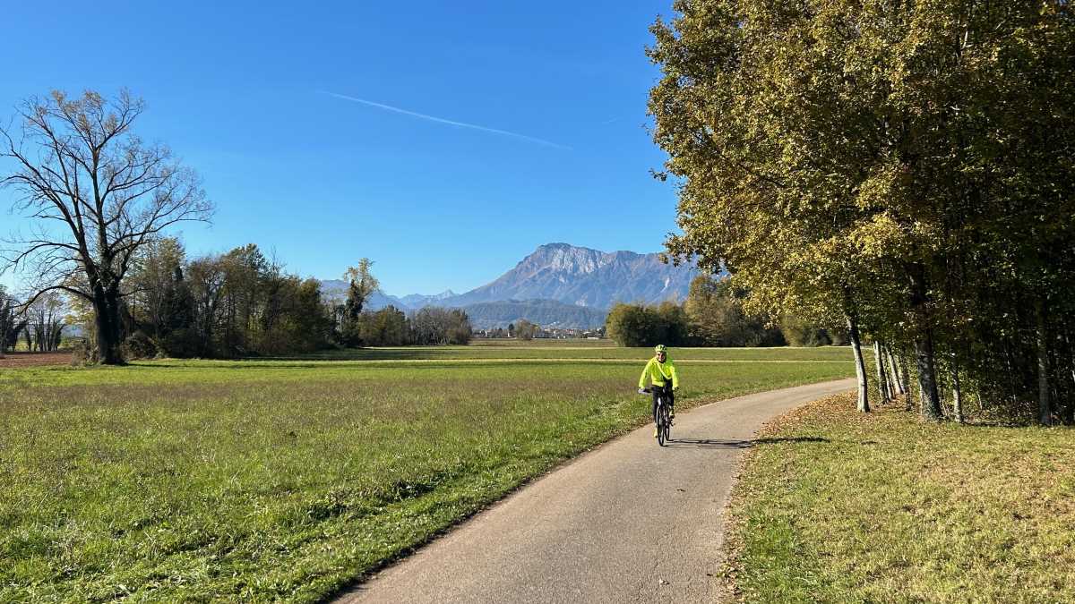
<path id="1" fill-rule="evenodd" d="M 884 401 L 1075 421 L 1070 2 L 679 0 L 655 141 L 678 259 L 877 342 Z"/>

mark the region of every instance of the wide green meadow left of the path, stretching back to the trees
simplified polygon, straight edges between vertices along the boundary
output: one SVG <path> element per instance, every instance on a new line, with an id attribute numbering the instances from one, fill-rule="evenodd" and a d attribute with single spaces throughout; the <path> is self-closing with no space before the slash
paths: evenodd
<path id="1" fill-rule="evenodd" d="M 648 356 L 0 370 L 0 601 L 316 601 L 644 422 Z M 685 406 L 854 373 L 847 349 L 674 358 Z"/>

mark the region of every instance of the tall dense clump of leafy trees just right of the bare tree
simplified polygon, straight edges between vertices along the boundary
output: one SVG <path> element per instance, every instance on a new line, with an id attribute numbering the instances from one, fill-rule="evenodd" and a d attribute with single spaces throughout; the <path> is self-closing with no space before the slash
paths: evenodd
<path id="1" fill-rule="evenodd" d="M 178 240 L 154 241 L 128 283 L 121 330 L 131 356 L 282 355 L 333 341 L 320 283 L 287 274 L 253 244 L 188 260 Z"/>

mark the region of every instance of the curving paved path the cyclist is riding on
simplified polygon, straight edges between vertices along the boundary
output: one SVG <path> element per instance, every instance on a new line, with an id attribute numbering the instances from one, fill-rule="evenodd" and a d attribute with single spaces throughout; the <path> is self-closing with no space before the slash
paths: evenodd
<path id="1" fill-rule="evenodd" d="M 770 418 L 855 387 L 827 382 L 683 413 L 590 451 L 341 602 L 710 602 L 737 462 Z"/>

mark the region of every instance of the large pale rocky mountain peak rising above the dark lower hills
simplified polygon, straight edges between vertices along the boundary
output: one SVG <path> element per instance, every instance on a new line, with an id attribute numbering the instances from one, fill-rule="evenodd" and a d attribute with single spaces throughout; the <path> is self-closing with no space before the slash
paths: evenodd
<path id="1" fill-rule="evenodd" d="M 439 304 L 469 306 L 502 300 L 556 300 L 610 308 L 616 302 L 683 300 L 698 274 L 693 264 L 665 264 L 658 254 L 607 253 L 550 243 L 492 283 L 446 298 Z"/>

